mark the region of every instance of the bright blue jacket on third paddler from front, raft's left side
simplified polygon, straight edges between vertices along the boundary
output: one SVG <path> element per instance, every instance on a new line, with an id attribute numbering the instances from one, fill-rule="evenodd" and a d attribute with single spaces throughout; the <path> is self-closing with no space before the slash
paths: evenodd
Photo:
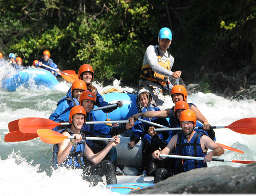
<path id="1" fill-rule="evenodd" d="M 79 105 L 76 98 L 64 96 L 57 103 L 57 108 L 50 115 L 49 119 L 55 122 L 69 122 L 69 113 L 72 107 Z"/>

